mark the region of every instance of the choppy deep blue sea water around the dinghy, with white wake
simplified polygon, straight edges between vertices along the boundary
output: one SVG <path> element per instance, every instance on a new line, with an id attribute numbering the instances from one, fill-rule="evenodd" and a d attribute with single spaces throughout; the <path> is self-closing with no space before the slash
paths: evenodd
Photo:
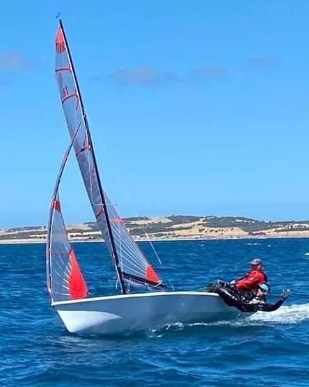
<path id="1" fill-rule="evenodd" d="M 1 386 L 309 386 L 309 239 L 155 242 L 141 248 L 177 289 L 244 274 L 264 260 L 270 300 L 285 306 L 244 321 L 181 322 L 123 338 L 68 333 L 49 306 L 43 244 L 0 245 Z M 74 244 L 93 294 L 116 275 L 101 243 Z"/>

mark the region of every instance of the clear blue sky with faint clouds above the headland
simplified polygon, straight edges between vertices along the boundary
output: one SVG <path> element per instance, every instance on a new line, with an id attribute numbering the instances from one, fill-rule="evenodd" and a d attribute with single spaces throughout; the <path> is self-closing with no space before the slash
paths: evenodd
<path id="1" fill-rule="evenodd" d="M 309 3 L 3 1 L 0 228 L 46 223 L 68 145 L 58 11 L 122 216 L 309 219 Z M 61 199 L 93 220 L 74 159 Z"/>

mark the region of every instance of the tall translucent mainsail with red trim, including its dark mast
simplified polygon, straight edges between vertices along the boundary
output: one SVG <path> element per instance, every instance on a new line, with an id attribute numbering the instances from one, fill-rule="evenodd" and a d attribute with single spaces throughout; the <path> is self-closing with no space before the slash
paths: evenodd
<path id="1" fill-rule="evenodd" d="M 56 79 L 81 175 L 97 226 L 115 264 L 122 293 L 126 292 L 125 281 L 133 285 L 163 287 L 161 279 L 129 235 L 115 205 L 102 188 L 88 120 L 61 21 L 56 35 Z"/>

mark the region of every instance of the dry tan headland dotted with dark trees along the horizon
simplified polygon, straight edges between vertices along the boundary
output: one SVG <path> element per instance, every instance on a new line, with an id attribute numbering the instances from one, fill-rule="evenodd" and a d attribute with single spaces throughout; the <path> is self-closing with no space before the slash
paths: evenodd
<path id="1" fill-rule="evenodd" d="M 183 239 L 244 239 L 309 237 L 309 221 L 259 221 L 242 216 L 133 217 L 123 219 L 136 241 Z M 102 240 L 95 222 L 67 227 L 72 242 Z M 45 242 L 46 226 L 27 226 L 0 230 L 0 244 Z"/>

